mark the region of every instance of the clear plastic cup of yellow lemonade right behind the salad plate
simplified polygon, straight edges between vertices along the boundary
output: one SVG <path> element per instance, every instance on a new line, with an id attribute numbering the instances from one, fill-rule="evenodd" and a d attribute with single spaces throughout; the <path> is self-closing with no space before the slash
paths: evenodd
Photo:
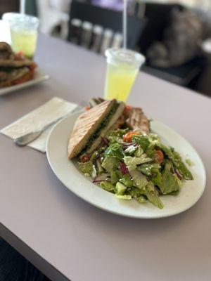
<path id="1" fill-rule="evenodd" d="M 141 65 L 145 62 L 145 57 L 124 48 L 109 48 L 106 50 L 106 58 L 105 98 L 125 101 Z"/>

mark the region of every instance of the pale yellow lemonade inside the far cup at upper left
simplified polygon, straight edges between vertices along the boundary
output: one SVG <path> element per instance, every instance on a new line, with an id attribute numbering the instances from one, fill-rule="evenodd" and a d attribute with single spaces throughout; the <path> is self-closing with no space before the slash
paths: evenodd
<path id="1" fill-rule="evenodd" d="M 23 51 L 28 58 L 33 58 L 37 44 L 37 30 L 11 28 L 11 41 L 13 51 Z"/>

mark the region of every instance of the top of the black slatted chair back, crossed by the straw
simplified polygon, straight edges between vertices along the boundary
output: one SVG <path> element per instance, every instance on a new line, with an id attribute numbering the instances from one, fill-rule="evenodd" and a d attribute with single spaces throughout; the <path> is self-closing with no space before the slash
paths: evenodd
<path id="1" fill-rule="evenodd" d="M 122 12 L 113 11 L 108 8 L 101 8 L 89 3 L 73 0 L 70 6 L 70 22 L 73 18 L 91 22 L 94 25 L 101 25 L 113 32 L 122 33 Z M 139 42 L 145 20 L 136 15 L 127 17 L 127 46 L 134 49 Z M 69 24 L 68 41 L 71 41 L 71 25 Z"/>

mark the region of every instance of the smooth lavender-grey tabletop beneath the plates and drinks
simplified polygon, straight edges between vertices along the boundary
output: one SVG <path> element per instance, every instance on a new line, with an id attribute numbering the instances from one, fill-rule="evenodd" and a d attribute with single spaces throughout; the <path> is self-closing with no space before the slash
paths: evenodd
<path id="1" fill-rule="evenodd" d="M 51 80 L 1 96 L 0 128 L 53 96 L 80 103 L 102 95 L 101 56 L 40 36 L 36 60 Z M 128 101 L 198 150 L 207 172 L 198 203 L 157 220 L 109 214 L 66 189 L 46 155 L 0 135 L 0 235 L 51 280 L 211 280 L 211 99 L 141 72 Z"/>

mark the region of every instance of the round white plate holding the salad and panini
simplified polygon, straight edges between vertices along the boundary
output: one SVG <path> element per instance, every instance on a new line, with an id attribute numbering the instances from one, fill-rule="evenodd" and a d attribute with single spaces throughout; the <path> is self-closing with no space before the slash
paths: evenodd
<path id="1" fill-rule="evenodd" d="M 181 156 L 191 159 L 193 166 L 190 170 L 193 181 L 186 181 L 177 196 L 161 196 L 165 207 L 158 209 L 150 202 L 140 204 L 135 200 L 119 200 L 110 192 L 91 183 L 81 174 L 75 162 L 70 161 L 67 155 L 68 138 L 78 114 L 71 115 L 60 121 L 52 129 L 47 143 L 47 157 L 54 174 L 75 195 L 94 206 L 122 216 L 132 218 L 162 218 L 186 211 L 195 204 L 205 189 L 205 168 L 198 153 L 178 133 L 158 121 L 151 122 L 153 131 L 162 136 L 165 143 L 171 144 Z"/>

